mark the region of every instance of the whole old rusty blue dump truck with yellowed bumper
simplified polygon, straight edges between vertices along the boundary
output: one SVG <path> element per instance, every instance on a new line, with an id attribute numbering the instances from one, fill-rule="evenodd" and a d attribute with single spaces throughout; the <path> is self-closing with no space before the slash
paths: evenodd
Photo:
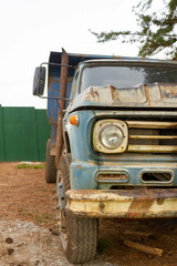
<path id="1" fill-rule="evenodd" d="M 56 181 L 64 253 L 84 263 L 98 218 L 177 217 L 177 62 L 63 50 L 46 64 L 46 182 Z"/>

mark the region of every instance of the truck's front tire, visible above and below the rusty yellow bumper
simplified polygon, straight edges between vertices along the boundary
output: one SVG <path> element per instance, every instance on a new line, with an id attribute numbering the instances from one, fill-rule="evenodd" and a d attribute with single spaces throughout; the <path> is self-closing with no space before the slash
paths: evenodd
<path id="1" fill-rule="evenodd" d="M 70 190 L 71 155 L 63 154 L 60 160 L 60 181 L 64 191 Z M 60 209 L 61 212 L 61 209 Z M 98 219 L 82 218 L 60 213 L 60 235 L 62 247 L 70 263 L 90 262 L 96 254 Z"/>

